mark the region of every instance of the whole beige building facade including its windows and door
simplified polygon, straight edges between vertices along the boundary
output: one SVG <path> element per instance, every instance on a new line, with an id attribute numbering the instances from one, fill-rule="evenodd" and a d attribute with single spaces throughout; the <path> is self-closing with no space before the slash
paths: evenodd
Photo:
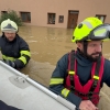
<path id="1" fill-rule="evenodd" d="M 87 16 L 110 23 L 110 0 L 0 0 L 0 11 L 14 10 L 26 25 L 74 29 Z"/>

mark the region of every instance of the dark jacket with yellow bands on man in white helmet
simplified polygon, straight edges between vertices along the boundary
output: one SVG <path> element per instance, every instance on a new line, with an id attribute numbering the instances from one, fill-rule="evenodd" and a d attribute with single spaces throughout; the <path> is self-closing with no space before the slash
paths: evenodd
<path id="1" fill-rule="evenodd" d="M 9 42 L 4 34 L 0 37 L 0 50 L 3 61 L 14 62 L 15 68 L 23 68 L 30 61 L 31 54 L 28 43 L 18 34 L 12 42 Z"/>

